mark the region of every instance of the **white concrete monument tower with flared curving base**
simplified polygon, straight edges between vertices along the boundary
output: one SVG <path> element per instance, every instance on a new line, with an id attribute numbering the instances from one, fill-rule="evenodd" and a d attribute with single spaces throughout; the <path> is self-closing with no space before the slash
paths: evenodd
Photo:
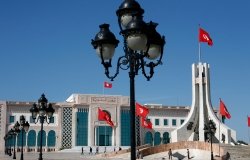
<path id="1" fill-rule="evenodd" d="M 214 113 L 210 97 L 209 64 L 192 65 L 192 105 L 185 122 L 171 132 L 171 141 L 205 141 L 205 124 L 212 120 L 216 125 L 213 142 L 236 141 L 236 132 L 221 123 Z"/>

